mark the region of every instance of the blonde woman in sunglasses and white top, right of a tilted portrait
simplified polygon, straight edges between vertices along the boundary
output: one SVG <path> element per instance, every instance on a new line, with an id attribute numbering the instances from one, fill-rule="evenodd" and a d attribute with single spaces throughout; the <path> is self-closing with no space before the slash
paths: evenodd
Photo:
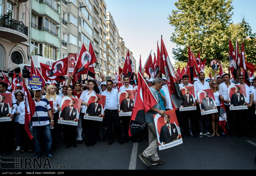
<path id="1" fill-rule="evenodd" d="M 213 113 L 211 115 L 212 119 L 212 136 L 220 136 L 218 133 L 218 127 L 219 127 L 219 116 L 220 116 L 220 108 L 221 108 L 221 101 L 220 101 L 220 93 L 219 93 L 219 83 L 214 80 L 210 84 L 211 89 L 213 90 L 214 98 L 216 101 L 218 113 Z"/>

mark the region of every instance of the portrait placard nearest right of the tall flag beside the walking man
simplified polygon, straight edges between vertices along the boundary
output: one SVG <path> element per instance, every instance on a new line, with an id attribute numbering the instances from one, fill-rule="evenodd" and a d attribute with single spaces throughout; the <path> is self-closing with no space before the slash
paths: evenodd
<path id="1" fill-rule="evenodd" d="M 184 98 L 180 111 L 196 110 L 194 86 L 182 86 L 180 88 Z"/>

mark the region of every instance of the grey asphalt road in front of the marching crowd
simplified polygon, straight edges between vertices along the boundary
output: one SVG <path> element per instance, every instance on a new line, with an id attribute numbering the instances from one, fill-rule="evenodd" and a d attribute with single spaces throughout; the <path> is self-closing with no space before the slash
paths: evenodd
<path id="1" fill-rule="evenodd" d="M 54 158 L 45 159 L 42 163 L 50 162 L 51 171 L 65 170 L 256 170 L 256 138 L 243 138 L 215 136 L 195 138 L 189 136 L 183 138 L 183 144 L 158 151 L 159 157 L 166 163 L 148 167 L 138 155 L 148 147 L 148 141 L 134 143 L 131 140 L 124 145 L 115 141 L 108 145 L 105 139 L 103 143 L 86 147 L 85 143 L 77 144 L 77 147 L 66 148 L 59 139 L 60 145 L 53 152 Z M 32 158 L 34 153 L 13 151 L 9 156 L 5 153 L 1 157 Z M 24 160 L 25 161 L 25 160 Z M 2 164 L 2 163 L 1 163 Z M 63 167 L 65 169 L 56 169 Z M 55 167 L 55 168 L 54 168 Z M 38 167 L 37 167 L 38 168 Z M 24 162 L 23 162 L 24 169 Z M 46 166 L 46 170 L 49 168 Z"/>

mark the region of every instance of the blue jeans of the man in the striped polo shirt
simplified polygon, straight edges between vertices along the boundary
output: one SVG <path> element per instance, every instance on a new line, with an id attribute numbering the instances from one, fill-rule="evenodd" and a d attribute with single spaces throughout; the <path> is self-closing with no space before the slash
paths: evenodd
<path id="1" fill-rule="evenodd" d="M 50 125 L 45 126 L 33 126 L 33 143 L 34 151 L 37 155 L 42 155 L 41 145 L 40 145 L 40 135 L 43 135 L 45 142 L 45 154 L 48 155 L 52 151 L 53 138 L 51 134 Z"/>

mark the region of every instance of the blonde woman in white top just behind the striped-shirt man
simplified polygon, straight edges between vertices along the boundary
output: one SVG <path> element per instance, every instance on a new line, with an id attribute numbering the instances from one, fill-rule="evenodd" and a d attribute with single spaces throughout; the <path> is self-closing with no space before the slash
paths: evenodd
<path id="1" fill-rule="evenodd" d="M 50 84 L 47 87 L 44 98 L 46 98 L 48 101 L 53 101 L 52 112 L 54 114 L 54 123 L 58 124 L 59 111 L 61 111 L 61 97 L 55 93 L 55 86 L 53 84 Z M 54 129 L 52 129 L 51 132 L 53 136 L 53 151 L 55 151 L 57 146 L 58 126 L 54 126 Z"/>

